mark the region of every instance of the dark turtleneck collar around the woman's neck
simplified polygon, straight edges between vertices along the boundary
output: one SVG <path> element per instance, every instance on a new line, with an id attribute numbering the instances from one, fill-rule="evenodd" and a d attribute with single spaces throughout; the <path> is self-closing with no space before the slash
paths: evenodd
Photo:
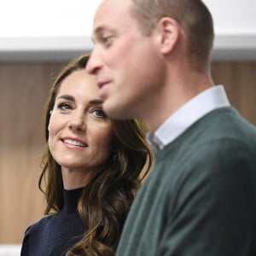
<path id="1" fill-rule="evenodd" d="M 77 211 L 79 197 L 84 188 L 66 190 L 63 189 L 64 207 L 61 212 L 70 214 Z"/>

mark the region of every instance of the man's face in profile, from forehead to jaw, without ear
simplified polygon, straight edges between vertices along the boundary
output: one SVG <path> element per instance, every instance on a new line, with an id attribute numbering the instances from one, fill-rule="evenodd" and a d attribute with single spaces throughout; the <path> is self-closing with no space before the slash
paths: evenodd
<path id="1" fill-rule="evenodd" d="M 96 74 L 104 111 L 118 119 L 146 116 L 159 77 L 155 37 L 143 36 L 131 16 L 131 4 L 105 0 L 99 7 L 93 27 L 95 48 L 86 67 Z"/>

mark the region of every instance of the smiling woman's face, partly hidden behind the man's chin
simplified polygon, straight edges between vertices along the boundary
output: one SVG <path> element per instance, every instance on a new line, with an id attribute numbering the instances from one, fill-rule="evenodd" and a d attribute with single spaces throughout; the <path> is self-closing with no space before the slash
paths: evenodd
<path id="1" fill-rule="evenodd" d="M 111 121 L 102 111 L 96 78 L 85 70 L 61 83 L 49 119 L 49 150 L 61 169 L 93 174 L 108 160 Z"/>

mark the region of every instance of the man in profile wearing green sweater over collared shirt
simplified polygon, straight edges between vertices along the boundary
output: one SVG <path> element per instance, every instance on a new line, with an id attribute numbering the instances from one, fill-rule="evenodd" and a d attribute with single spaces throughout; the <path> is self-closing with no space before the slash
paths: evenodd
<path id="1" fill-rule="evenodd" d="M 213 85 L 213 38 L 201 0 L 97 9 L 87 71 L 108 115 L 143 119 L 155 156 L 116 255 L 256 255 L 256 129 Z"/>

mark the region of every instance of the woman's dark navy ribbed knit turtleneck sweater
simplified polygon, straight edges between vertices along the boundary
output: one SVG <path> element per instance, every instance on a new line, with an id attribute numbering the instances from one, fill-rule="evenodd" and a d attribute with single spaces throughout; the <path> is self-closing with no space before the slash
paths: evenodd
<path id="1" fill-rule="evenodd" d="M 21 256 L 61 256 L 84 234 L 84 225 L 77 211 L 82 189 L 64 190 L 61 212 L 42 218 L 25 233 Z"/>

